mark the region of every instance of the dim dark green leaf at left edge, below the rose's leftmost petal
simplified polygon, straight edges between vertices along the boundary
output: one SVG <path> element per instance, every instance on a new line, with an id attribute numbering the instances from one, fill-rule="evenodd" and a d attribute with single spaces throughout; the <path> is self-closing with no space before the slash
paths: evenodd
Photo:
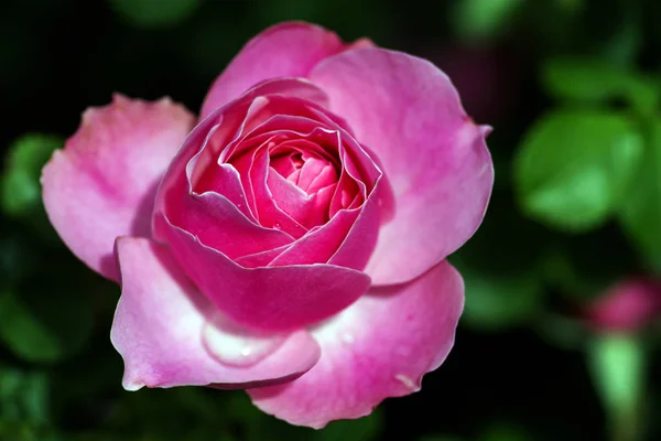
<path id="1" fill-rule="evenodd" d="M 91 334 L 90 293 L 71 283 L 56 288 L 43 283 L 0 295 L 0 340 L 26 361 L 61 361 L 79 351 Z"/>

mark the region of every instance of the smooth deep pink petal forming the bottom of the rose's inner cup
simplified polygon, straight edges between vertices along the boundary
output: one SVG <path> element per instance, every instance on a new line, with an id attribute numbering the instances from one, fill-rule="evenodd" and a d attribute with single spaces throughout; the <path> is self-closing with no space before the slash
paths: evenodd
<path id="1" fill-rule="evenodd" d="M 300 329 L 342 311 L 370 284 L 364 272 L 332 265 L 243 268 L 181 228 L 167 225 L 163 230 L 172 252 L 199 290 L 246 326 Z"/>

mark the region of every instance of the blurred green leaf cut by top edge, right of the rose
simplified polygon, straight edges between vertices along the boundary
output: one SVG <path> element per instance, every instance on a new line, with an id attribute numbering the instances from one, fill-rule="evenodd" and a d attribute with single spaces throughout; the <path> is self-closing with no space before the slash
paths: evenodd
<path id="1" fill-rule="evenodd" d="M 511 25 L 524 0 L 459 0 L 453 9 L 455 32 L 465 40 L 485 41 Z"/>

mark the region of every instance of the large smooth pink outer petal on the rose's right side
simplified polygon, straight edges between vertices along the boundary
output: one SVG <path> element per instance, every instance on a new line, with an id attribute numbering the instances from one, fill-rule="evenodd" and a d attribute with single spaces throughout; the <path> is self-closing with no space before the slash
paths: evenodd
<path id="1" fill-rule="evenodd" d="M 426 271 L 479 226 L 494 168 L 477 127 L 443 72 L 403 53 L 356 49 L 310 75 L 384 169 L 397 201 L 366 271 L 399 283 Z M 375 111 L 378 109 L 378 111 Z"/>

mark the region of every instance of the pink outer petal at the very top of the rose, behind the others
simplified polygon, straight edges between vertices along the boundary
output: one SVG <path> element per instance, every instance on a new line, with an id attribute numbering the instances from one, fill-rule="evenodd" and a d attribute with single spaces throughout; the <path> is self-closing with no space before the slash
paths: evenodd
<path id="1" fill-rule="evenodd" d="M 256 84 L 278 77 L 305 77 L 325 57 L 344 50 L 333 32 L 307 23 L 269 28 L 238 53 L 214 82 L 202 106 L 202 118 L 242 95 Z"/>

